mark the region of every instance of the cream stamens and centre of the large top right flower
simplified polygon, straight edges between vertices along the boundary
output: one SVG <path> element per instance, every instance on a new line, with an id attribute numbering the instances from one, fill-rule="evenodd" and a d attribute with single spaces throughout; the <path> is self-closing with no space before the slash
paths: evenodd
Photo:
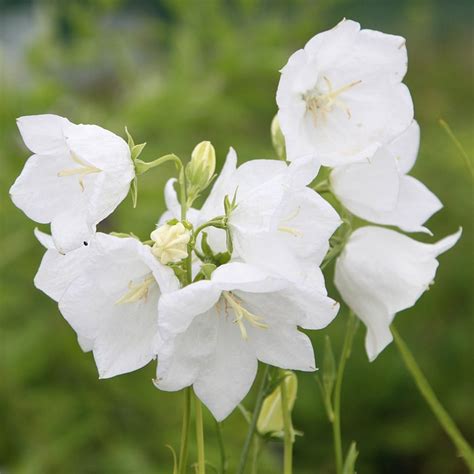
<path id="1" fill-rule="evenodd" d="M 360 80 L 350 82 L 334 90 L 331 81 L 326 76 L 323 76 L 323 80 L 326 83 L 324 91 L 316 84 L 313 89 L 303 94 L 303 100 L 306 102 L 306 110 L 311 114 L 315 127 L 319 125 L 320 116 L 323 120 L 326 120 L 326 115 L 331 112 L 335 106 L 345 110 L 347 117 L 350 119 L 351 111 L 349 107 L 338 97 L 362 82 Z"/>

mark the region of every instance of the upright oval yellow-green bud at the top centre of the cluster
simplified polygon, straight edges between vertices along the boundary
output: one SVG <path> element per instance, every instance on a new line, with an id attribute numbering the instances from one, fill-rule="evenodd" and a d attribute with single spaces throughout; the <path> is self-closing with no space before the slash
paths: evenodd
<path id="1" fill-rule="evenodd" d="M 206 189 L 214 176 L 216 169 L 216 151 L 211 142 L 201 142 L 194 148 L 191 161 L 186 167 L 188 192 L 197 196 Z"/>

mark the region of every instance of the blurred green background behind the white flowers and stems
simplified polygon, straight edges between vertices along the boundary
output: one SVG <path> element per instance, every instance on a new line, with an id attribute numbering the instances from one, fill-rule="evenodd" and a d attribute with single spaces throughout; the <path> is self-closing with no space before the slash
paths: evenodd
<path id="1" fill-rule="evenodd" d="M 279 68 L 342 17 L 407 38 L 406 82 L 422 129 L 413 174 L 445 204 L 430 221 L 436 238 L 460 225 L 464 234 L 441 257 L 437 284 L 416 308 L 400 314 L 397 324 L 441 400 L 474 441 L 472 180 L 438 124 L 443 117 L 472 155 L 470 0 L 11 0 L 0 5 L 2 474 L 171 473 L 165 445 L 178 447 L 182 399 L 153 387 L 154 364 L 99 381 L 91 355 L 80 351 L 56 304 L 34 288 L 43 250 L 33 238 L 35 224 L 8 197 L 29 156 L 15 118 L 56 113 L 122 136 L 127 125 L 136 142 L 148 142 L 145 160 L 168 152 L 187 158 L 204 139 L 216 146 L 219 166 L 229 146 L 241 160 L 271 157 Z M 163 167 L 141 178 L 138 208 L 127 198 L 102 229 L 145 238 L 163 211 L 161 189 L 172 171 Z M 327 279 L 335 295 L 331 272 Z M 344 317 L 341 312 L 324 332 L 336 350 Z M 313 338 L 319 359 L 324 333 Z M 343 436 L 345 447 L 352 439 L 358 443 L 358 472 L 466 472 L 396 348 L 369 364 L 363 337 L 359 328 L 343 387 Z M 300 374 L 299 383 L 294 423 L 304 436 L 295 445 L 295 473 L 332 473 L 331 431 L 313 375 Z M 244 402 L 249 408 L 252 399 L 250 394 Z M 209 413 L 205 416 L 207 457 L 217 464 L 214 424 Z M 230 472 L 245 431 L 237 410 L 223 424 Z M 270 443 L 259 472 L 278 472 L 280 456 L 280 444 Z"/>

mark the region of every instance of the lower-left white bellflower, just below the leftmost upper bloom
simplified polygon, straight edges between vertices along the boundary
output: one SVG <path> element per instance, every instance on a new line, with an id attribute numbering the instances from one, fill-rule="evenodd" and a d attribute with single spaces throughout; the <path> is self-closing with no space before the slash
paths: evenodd
<path id="1" fill-rule="evenodd" d="M 172 270 L 133 238 L 97 233 L 87 247 L 62 255 L 49 236 L 37 235 L 47 251 L 35 285 L 58 301 L 81 348 L 93 351 L 100 377 L 131 372 L 154 359 L 158 299 L 178 288 Z"/>

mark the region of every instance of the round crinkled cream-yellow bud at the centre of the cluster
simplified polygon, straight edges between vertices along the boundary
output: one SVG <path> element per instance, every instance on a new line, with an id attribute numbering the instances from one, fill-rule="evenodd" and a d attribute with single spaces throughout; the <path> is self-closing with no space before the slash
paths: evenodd
<path id="1" fill-rule="evenodd" d="M 150 237 L 155 242 L 151 251 L 163 265 L 179 262 L 188 256 L 191 232 L 181 222 L 164 224 L 154 230 Z"/>

